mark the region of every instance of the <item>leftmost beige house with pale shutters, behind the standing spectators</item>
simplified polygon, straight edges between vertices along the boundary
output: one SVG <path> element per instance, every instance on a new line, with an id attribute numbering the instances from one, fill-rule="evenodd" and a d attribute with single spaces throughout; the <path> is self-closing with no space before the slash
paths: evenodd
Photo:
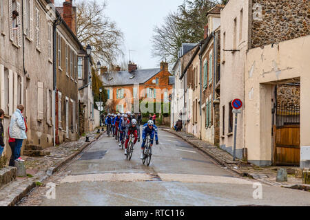
<path id="1" fill-rule="evenodd" d="M 53 145 L 52 23 L 46 17 L 46 5 L 41 0 L 0 1 L 0 108 L 6 114 L 4 127 L 8 129 L 17 104 L 23 104 L 28 124 L 28 140 L 23 144 L 44 148 Z M 8 140 L 8 133 L 5 137 Z M 10 148 L 4 153 L 10 157 Z"/>

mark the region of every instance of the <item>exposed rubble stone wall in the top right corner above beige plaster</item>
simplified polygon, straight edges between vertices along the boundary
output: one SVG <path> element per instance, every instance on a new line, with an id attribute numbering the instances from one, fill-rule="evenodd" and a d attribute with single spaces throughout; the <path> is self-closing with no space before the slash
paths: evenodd
<path id="1" fill-rule="evenodd" d="M 309 0 L 253 0 L 251 48 L 310 34 Z"/>

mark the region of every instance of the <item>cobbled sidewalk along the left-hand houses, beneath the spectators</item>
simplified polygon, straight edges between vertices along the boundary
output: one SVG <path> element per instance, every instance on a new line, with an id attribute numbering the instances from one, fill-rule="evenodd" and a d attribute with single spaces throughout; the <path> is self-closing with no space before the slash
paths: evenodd
<path id="1" fill-rule="evenodd" d="M 25 159 L 25 168 L 28 177 L 17 177 L 6 186 L 0 188 L 0 206 L 14 206 L 21 201 L 25 195 L 36 186 L 39 186 L 44 179 L 55 173 L 61 166 L 70 162 L 76 155 L 79 155 L 87 146 L 105 132 L 96 133 L 95 131 L 86 133 L 90 137 L 90 142 L 85 142 L 86 137 L 81 137 L 76 142 L 65 142 L 59 146 L 47 148 L 50 155 L 45 157 L 27 157 Z"/>

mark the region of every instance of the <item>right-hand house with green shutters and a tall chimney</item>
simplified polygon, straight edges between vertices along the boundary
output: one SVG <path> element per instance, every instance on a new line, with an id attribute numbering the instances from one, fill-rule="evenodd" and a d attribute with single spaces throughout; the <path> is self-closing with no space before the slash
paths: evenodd
<path id="1" fill-rule="evenodd" d="M 183 70 L 183 76 L 188 79 L 187 101 L 190 104 L 187 132 L 212 144 L 219 142 L 221 8 L 223 5 L 216 5 L 207 12 L 205 37 Z"/>

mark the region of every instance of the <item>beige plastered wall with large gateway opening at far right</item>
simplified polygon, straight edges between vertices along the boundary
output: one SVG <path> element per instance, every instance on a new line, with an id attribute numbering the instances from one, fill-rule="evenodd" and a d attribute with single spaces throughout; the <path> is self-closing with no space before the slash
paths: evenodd
<path id="1" fill-rule="evenodd" d="M 249 50 L 245 62 L 245 145 L 248 160 L 258 165 L 274 164 L 281 154 L 273 130 L 275 88 L 300 83 L 300 149 L 285 147 L 286 157 L 300 150 L 300 167 L 310 166 L 310 36 Z M 298 104 L 298 103 L 296 103 Z M 293 130 L 291 130 L 293 131 Z M 287 133 L 287 136 L 290 134 Z M 298 140 L 298 135 L 292 137 Z M 282 143 L 283 144 L 283 143 Z M 280 148 L 281 150 L 281 148 Z M 283 149 L 282 149 L 283 151 Z M 298 155 L 296 155 L 298 158 Z"/>

